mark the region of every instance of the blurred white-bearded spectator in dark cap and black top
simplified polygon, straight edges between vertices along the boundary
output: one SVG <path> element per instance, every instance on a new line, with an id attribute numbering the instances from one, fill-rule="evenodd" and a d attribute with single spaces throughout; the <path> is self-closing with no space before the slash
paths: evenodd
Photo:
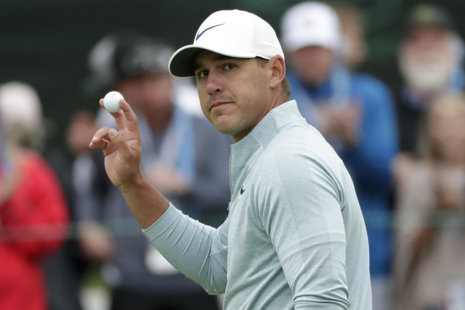
<path id="1" fill-rule="evenodd" d="M 418 156 L 418 137 L 430 103 L 437 95 L 464 87 L 462 39 L 443 9 L 420 4 L 408 14 L 399 49 L 403 85 L 397 92 L 401 155 L 395 164 L 396 178 L 409 174 Z"/>

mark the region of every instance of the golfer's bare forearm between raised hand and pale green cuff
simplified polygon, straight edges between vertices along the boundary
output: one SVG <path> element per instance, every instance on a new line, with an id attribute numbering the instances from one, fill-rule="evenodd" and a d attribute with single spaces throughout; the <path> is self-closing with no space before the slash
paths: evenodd
<path id="1" fill-rule="evenodd" d="M 155 223 L 170 206 L 170 202 L 143 175 L 135 182 L 121 186 L 120 190 L 142 229 Z"/>

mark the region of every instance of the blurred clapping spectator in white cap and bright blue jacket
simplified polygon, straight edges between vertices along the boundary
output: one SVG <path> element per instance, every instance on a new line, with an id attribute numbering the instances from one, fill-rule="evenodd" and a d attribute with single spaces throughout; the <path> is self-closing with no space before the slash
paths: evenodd
<path id="1" fill-rule="evenodd" d="M 293 69 L 291 99 L 338 152 L 351 173 L 370 244 L 373 309 L 388 309 L 390 165 L 397 151 L 394 107 L 386 86 L 351 74 L 341 60 L 339 20 L 329 6 L 303 2 L 282 18 L 282 44 Z"/>

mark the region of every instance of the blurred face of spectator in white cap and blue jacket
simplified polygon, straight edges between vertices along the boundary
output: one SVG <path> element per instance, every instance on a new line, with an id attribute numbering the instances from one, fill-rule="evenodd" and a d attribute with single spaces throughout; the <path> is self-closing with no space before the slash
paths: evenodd
<path id="1" fill-rule="evenodd" d="M 325 47 L 303 47 L 290 52 L 288 59 L 306 84 L 316 86 L 329 75 L 333 52 Z"/>

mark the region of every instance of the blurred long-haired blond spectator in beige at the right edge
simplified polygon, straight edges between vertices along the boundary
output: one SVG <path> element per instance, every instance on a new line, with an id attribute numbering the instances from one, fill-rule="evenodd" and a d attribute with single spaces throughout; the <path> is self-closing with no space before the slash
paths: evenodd
<path id="1" fill-rule="evenodd" d="M 453 303 L 465 301 L 465 95 L 436 97 L 426 123 L 421 160 L 398 185 L 395 309 L 464 309 Z"/>

